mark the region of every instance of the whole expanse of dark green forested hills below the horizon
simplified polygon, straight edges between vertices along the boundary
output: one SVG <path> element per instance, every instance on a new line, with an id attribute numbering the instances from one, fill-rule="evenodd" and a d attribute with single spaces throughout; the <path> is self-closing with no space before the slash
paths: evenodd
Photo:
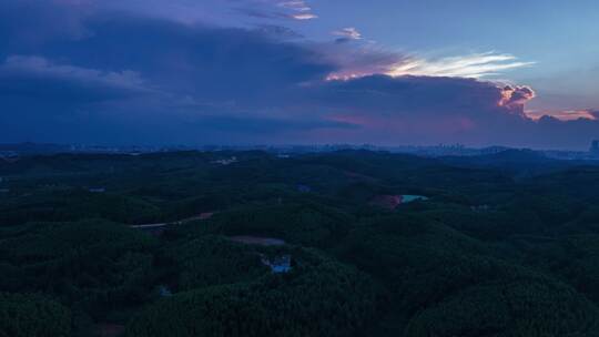
<path id="1" fill-rule="evenodd" d="M 0 161 L 0 336 L 599 336 L 599 166 Z"/>

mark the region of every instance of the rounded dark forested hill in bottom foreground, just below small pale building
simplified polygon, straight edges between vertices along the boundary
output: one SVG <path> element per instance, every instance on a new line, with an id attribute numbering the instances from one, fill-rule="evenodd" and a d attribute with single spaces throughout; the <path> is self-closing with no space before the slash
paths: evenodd
<path id="1" fill-rule="evenodd" d="M 372 321 L 370 279 L 318 253 L 290 253 L 290 274 L 177 294 L 134 318 L 128 336 L 347 336 Z"/>

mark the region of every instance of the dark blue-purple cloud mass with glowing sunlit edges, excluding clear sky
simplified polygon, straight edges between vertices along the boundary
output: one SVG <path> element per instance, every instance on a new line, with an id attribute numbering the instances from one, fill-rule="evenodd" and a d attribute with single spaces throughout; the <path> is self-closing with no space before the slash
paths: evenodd
<path id="1" fill-rule="evenodd" d="M 304 1 L 258 2 L 312 13 Z M 506 54 L 424 62 L 361 43 L 294 40 L 272 25 L 21 3 L 35 20 L 8 20 L 20 9 L 0 4 L 0 142 L 586 149 L 599 136 L 592 110 L 569 121 L 530 118 L 531 88 L 480 80 L 526 65 Z"/>

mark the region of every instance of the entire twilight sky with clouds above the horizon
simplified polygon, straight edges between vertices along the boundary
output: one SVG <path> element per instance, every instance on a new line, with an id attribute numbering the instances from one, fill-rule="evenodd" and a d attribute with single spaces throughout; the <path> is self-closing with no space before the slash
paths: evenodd
<path id="1" fill-rule="evenodd" d="M 0 1 L 0 142 L 587 150 L 591 0 Z"/>

